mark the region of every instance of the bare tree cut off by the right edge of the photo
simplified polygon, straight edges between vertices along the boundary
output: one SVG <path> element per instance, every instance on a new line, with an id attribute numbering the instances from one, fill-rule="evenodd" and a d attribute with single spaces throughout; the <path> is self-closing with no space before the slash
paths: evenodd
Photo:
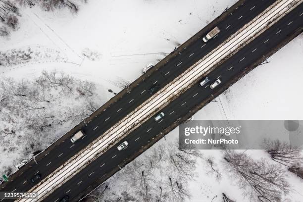
<path id="1" fill-rule="evenodd" d="M 302 150 L 280 140 L 264 139 L 264 148 L 272 160 L 288 167 L 288 170 L 303 178 Z"/>

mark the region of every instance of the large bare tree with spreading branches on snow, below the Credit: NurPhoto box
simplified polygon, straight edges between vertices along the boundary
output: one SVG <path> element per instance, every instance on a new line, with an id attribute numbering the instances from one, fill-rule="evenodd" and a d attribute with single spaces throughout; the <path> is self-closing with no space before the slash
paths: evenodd
<path id="1" fill-rule="evenodd" d="M 270 164 L 264 159 L 254 161 L 244 152 L 224 152 L 226 169 L 251 200 L 279 202 L 281 195 L 289 192 L 286 173 L 281 166 Z"/>

